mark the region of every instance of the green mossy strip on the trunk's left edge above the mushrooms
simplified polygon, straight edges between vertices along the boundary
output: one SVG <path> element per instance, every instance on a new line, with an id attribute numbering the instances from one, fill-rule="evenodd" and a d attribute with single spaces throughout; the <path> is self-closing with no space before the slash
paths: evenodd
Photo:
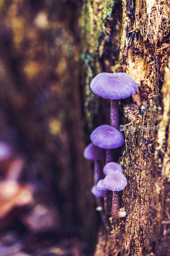
<path id="1" fill-rule="evenodd" d="M 98 46 L 104 32 L 104 23 L 109 19 L 114 5 L 113 0 L 93 1 L 84 0 L 81 15 L 82 54 L 86 73 L 84 110 L 89 128 L 92 128 L 93 117 L 98 112 L 98 102 L 90 89 L 90 82 L 101 72 L 98 59 Z"/>

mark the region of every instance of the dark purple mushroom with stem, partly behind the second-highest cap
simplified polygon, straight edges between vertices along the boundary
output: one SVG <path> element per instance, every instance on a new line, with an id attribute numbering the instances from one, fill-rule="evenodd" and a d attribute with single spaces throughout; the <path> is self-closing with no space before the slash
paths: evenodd
<path id="1" fill-rule="evenodd" d="M 101 166 L 100 159 L 105 158 L 105 150 L 95 146 L 92 142 L 84 149 L 83 156 L 86 159 L 94 160 L 94 185 L 100 180 Z"/>

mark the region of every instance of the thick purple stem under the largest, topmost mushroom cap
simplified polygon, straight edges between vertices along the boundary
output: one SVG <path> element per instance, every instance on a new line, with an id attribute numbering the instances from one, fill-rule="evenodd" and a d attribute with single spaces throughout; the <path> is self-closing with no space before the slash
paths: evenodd
<path id="1" fill-rule="evenodd" d="M 110 100 L 110 125 L 119 129 L 119 100 Z"/>

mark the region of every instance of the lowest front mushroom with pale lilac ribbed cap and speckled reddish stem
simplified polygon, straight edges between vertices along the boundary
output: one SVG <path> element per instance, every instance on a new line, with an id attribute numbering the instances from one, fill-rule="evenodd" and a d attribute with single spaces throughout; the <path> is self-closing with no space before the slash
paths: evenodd
<path id="1" fill-rule="evenodd" d="M 114 217 L 120 217 L 118 211 L 118 191 L 123 190 L 126 184 L 126 177 L 120 172 L 110 173 L 103 179 L 103 185 L 113 191 L 111 212 Z"/>

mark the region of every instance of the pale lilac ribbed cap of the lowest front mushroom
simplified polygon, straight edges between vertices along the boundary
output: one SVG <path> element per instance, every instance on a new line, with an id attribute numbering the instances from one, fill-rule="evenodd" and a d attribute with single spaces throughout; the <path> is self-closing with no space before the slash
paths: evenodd
<path id="1" fill-rule="evenodd" d="M 120 191 L 126 187 L 127 180 L 126 177 L 120 172 L 113 172 L 108 174 L 104 180 L 103 184 L 106 188 L 112 191 Z"/>

